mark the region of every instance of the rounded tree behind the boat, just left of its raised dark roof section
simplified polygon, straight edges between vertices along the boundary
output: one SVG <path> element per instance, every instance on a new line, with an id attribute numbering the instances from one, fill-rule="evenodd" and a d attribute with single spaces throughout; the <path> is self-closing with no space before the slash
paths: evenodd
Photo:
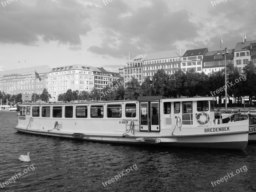
<path id="1" fill-rule="evenodd" d="M 124 89 L 124 99 L 126 100 L 137 100 L 138 96 L 141 95 L 140 83 L 134 77 L 127 83 L 127 87 Z"/>

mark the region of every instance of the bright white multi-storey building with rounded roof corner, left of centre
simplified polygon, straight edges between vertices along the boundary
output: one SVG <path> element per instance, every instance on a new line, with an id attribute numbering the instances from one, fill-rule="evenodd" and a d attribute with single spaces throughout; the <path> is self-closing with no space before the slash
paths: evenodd
<path id="1" fill-rule="evenodd" d="M 58 100 L 58 95 L 67 92 L 68 89 L 78 90 L 80 93 L 90 92 L 94 87 L 93 69 L 85 65 L 52 68 L 48 76 L 48 92 L 52 96 L 51 101 Z"/>

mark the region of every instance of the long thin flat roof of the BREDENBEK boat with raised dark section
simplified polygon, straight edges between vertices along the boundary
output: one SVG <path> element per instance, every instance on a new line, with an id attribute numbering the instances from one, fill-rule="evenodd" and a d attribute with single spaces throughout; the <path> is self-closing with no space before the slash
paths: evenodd
<path id="1" fill-rule="evenodd" d="M 74 104 L 103 104 L 113 102 L 135 102 L 135 101 L 156 101 L 156 100 L 169 100 L 172 102 L 176 101 L 201 101 L 201 100 L 212 100 L 215 101 L 215 97 L 179 97 L 179 98 L 165 98 L 164 96 L 139 96 L 137 100 L 114 100 L 114 101 L 86 101 L 86 102 L 74 102 L 74 103 L 21 103 L 19 105 L 74 105 Z"/>

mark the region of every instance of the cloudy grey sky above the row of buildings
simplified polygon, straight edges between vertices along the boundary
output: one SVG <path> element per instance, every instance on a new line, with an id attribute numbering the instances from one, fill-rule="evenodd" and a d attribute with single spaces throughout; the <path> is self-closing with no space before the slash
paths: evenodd
<path id="1" fill-rule="evenodd" d="M 234 49 L 256 40 L 255 0 L 0 0 L 0 71 L 118 68 L 145 50 Z M 20 63 L 19 63 L 20 61 Z"/>

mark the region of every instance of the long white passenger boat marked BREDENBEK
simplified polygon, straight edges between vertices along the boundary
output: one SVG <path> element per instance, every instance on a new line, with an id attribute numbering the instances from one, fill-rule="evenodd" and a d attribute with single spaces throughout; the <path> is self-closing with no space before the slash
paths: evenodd
<path id="1" fill-rule="evenodd" d="M 244 149 L 249 121 L 221 123 L 215 97 L 20 104 L 18 132 L 88 141 Z"/>

